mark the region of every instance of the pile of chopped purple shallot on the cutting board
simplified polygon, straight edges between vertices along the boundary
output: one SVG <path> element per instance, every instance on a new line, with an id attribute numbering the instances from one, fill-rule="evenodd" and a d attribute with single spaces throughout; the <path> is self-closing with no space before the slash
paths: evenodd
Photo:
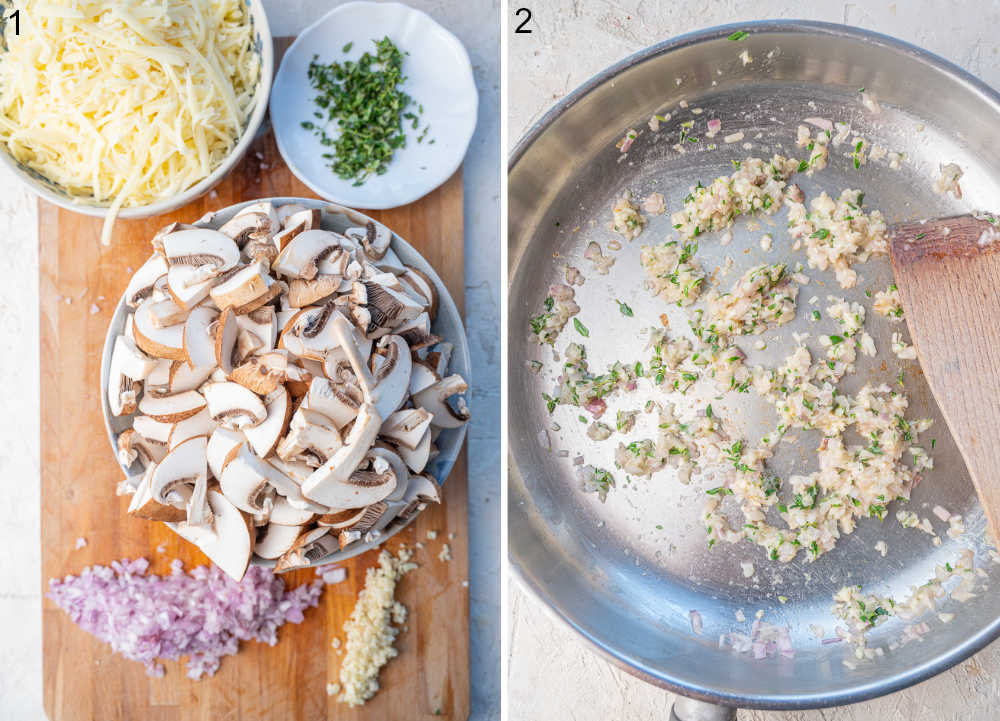
<path id="1" fill-rule="evenodd" d="M 223 656 L 253 639 L 273 646 L 286 622 L 301 623 L 303 611 L 318 605 L 323 579 L 286 590 L 285 582 L 262 566 L 234 581 L 217 566 L 185 571 L 179 560 L 168 576 L 147 574 L 145 558 L 89 566 L 79 576 L 52 579 L 48 597 L 74 623 L 141 661 L 150 676 L 163 676 L 157 659 L 188 656 L 187 676 L 212 676 Z"/>

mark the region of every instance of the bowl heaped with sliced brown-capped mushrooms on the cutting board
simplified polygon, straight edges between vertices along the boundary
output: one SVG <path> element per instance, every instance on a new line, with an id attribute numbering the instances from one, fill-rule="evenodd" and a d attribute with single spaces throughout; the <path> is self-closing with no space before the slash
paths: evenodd
<path id="1" fill-rule="evenodd" d="M 128 512 L 241 578 L 377 546 L 441 499 L 469 352 L 433 268 L 356 211 L 274 198 L 173 223 L 101 366 Z"/>

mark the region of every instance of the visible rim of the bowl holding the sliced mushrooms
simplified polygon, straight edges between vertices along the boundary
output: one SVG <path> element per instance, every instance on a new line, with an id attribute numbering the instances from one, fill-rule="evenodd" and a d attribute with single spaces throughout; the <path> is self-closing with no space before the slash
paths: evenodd
<path id="1" fill-rule="evenodd" d="M 194 223 L 208 224 L 211 223 L 212 220 L 214 220 L 214 218 L 220 214 L 228 213 L 230 211 L 232 211 L 235 214 L 241 208 L 244 208 L 253 203 L 261 203 L 261 202 L 270 202 L 276 205 L 285 205 L 287 203 L 302 203 L 307 207 L 320 208 L 324 213 L 333 213 L 333 214 L 336 213 L 343 214 L 344 210 L 351 210 L 351 211 L 354 210 L 353 208 L 347 208 L 346 206 L 333 204 L 330 203 L 329 201 L 317 198 L 300 198 L 295 196 L 273 196 L 268 198 L 255 198 L 252 200 L 240 201 L 239 203 L 233 203 L 232 205 L 228 205 L 224 208 L 219 208 L 218 210 L 206 213 L 204 216 L 194 221 Z M 359 213 L 359 215 L 368 220 L 374 221 L 374 218 L 370 218 L 364 213 Z M 385 224 L 382 223 L 382 225 Z M 389 228 L 389 226 L 387 225 L 385 227 Z M 452 298 L 451 291 L 448 290 L 448 286 L 445 285 L 444 281 L 441 279 L 441 276 L 438 275 L 437 270 L 434 268 L 434 266 L 431 265 L 426 258 L 424 258 L 423 254 L 419 250 L 410 245 L 410 243 L 405 238 L 400 236 L 392 228 L 389 228 L 389 230 L 392 233 L 392 244 L 395 245 L 396 243 L 400 243 L 407 251 L 412 252 L 417 258 L 419 258 L 420 262 L 424 266 L 421 268 L 421 270 L 430 276 L 431 281 L 437 287 L 438 317 L 440 317 L 443 312 L 446 315 L 452 316 L 458 321 L 458 328 L 460 332 L 457 333 L 457 335 L 454 338 L 444 339 L 454 344 L 454 349 L 452 351 L 453 353 L 452 361 L 449 364 L 449 366 L 455 364 L 455 361 L 458 360 L 459 363 L 457 365 L 464 368 L 466 374 L 469 377 L 471 377 L 472 358 L 469 352 L 469 338 L 465 332 L 465 319 L 459 312 L 458 306 L 455 305 L 455 299 Z M 108 371 L 109 371 L 109 366 L 111 365 L 111 352 L 114 347 L 114 340 L 118 336 L 118 332 L 115 331 L 114 329 L 116 328 L 116 326 L 121 324 L 122 321 L 119 321 L 119 318 L 123 317 L 126 313 L 127 313 L 127 308 L 125 306 L 125 293 L 122 292 L 121 296 L 118 299 L 118 302 L 115 304 L 114 313 L 112 313 L 111 320 L 108 322 L 108 329 L 104 336 L 104 346 L 101 352 L 99 391 L 101 395 L 101 416 L 104 420 L 104 430 L 108 434 L 108 441 L 111 445 L 111 453 L 114 456 L 115 463 L 118 464 L 118 467 L 121 469 L 122 473 L 128 475 L 129 467 L 123 465 L 121 461 L 118 459 L 118 448 L 116 444 L 117 434 L 112 428 L 112 418 L 110 415 L 110 408 L 108 406 L 108 394 L 106 390 L 108 386 Z M 458 457 L 462 454 L 462 450 L 465 448 L 465 441 L 468 435 L 469 424 L 465 423 L 459 426 L 459 428 L 453 430 L 457 431 L 453 441 L 454 454 L 453 457 L 447 462 L 446 470 L 442 474 L 443 477 L 438 480 L 438 483 L 442 486 L 451 476 L 451 473 L 455 467 L 455 463 L 458 462 Z M 405 523 L 396 526 L 391 533 L 384 533 L 380 538 L 378 538 L 373 542 L 369 543 L 362 542 L 362 543 L 352 544 L 351 546 L 348 546 L 346 550 L 335 551 L 334 553 L 328 554 L 323 558 L 320 558 L 317 561 L 310 563 L 309 566 L 306 566 L 306 568 L 314 568 L 317 566 L 325 565 L 327 563 L 338 563 L 340 561 L 346 561 L 349 558 L 358 556 L 373 548 L 378 548 L 386 541 L 388 541 L 390 538 L 395 536 L 397 533 L 402 531 L 404 528 L 409 526 L 419 515 L 420 512 L 414 513 Z M 275 561 L 258 558 L 257 556 L 251 556 L 250 563 L 252 565 L 257 565 L 257 566 L 272 567 L 274 566 Z M 298 569 L 292 569 L 292 570 L 298 570 Z"/>

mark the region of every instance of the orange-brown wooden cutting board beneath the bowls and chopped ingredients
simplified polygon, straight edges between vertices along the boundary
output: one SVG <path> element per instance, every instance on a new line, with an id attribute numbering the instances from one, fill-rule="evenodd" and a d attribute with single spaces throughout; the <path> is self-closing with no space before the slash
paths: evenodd
<path id="1" fill-rule="evenodd" d="M 111 247 L 99 241 L 98 219 L 39 204 L 41 267 L 42 586 L 78 574 L 90 564 L 145 556 L 164 573 L 173 558 L 185 567 L 207 563 L 193 546 L 162 524 L 126 515 L 127 497 L 116 497 L 122 477 L 101 418 L 101 349 L 129 269 L 149 256 L 149 241 L 172 221 L 194 221 L 205 212 L 252 198 L 314 197 L 286 168 L 271 133 L 258 138 L 247 158 L 205 197 L 169 215 L 120 221 Z M 461 310 L 463 305 L 462 177 L 403 208 L 371 212 L 412 243 L 433 265 Z M 374 565 L 371 551 L 343 565 L 347 581 L 327 586 L 318 608 L 302 624 L 286 624 L 278 644 L 245 642 L 222 660 L 212 678 L 191 681 L 183 663 L 168 662 L 164 678 L 112 654 L 110 647 L 74 625 L 46 600 L 43 609 L 45 710 L 51 721 L 174 719 L 454 719 L 469 715 L 469 597 L 467 464 L 463 451 L 447 483 L 444 502 L 428 508 L 389 540 L 425 548 L 420 568 L 407 575 L 397 598 L 410 611 L 396 646 L 399 656 L 380 675 L 382 690 L 360 709 L 326 694 L 341 656 L 331 648 Z M 429 540 L 428 531 L 439 532 Z M 448 534 L 454 539 L 448 540 Z M 75 549 L 76 540 L 87 545 Z M 442 543 L 453 560 L 438 560 Z M 157 546 L 166 544 L 166 553 Z M 284 576 L 290 586 L 310 581 L 312 570 Z"/>

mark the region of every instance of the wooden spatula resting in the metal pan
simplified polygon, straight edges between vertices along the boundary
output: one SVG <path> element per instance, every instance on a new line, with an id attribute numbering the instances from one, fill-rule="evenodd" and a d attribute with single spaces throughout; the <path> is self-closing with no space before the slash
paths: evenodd
<path id="1" fill-rule="evenodd" d="M 889 252 L 920 365 L 1000 539 L 1000 225 L 896 225 Z"/>

